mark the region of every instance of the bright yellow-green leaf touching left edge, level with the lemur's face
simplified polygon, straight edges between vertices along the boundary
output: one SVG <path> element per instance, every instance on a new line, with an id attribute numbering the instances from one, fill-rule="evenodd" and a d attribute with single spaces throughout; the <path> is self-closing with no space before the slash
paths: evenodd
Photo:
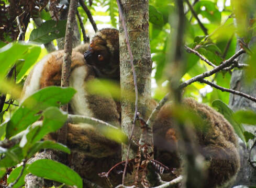
<path id="1" fill-rule="evenodd" d="M 13 42 L 0 49 L 0 76 L 5 76 L 7 70 L 29 49 L 31 44 Z"/>

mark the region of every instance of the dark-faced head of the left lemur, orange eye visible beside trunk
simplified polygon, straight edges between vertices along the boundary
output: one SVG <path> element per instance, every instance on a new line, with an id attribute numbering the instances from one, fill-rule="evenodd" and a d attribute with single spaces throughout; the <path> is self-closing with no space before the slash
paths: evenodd
<path id="1" fill-rule="evenodd" d="M 116 29 L 99 30 L 93 37 L 89 49 L 84 53 L 98 77 L 120 79 L 119 36 Z"/>

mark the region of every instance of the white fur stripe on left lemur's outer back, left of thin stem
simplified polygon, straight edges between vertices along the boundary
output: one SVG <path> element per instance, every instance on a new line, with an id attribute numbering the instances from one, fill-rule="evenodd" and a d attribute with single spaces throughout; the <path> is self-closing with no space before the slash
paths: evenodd
<path id="1" fill-rule="evenodd" d="M 32 95 L 35 91 L 39 90 L 40 87 L 40 78 L 42 75 L 42 70 L 44 64 L 49 60 L 49 57 L 51 54 L 48 54 L 42 58 L 35 66 L 34 69 L 32 70 L 31 78 L 29 80 L 29 83 L 25 83 L 24 88 L 23 88 L 23 97 L 20 101 L 23 102 L 27 97 Z"/>

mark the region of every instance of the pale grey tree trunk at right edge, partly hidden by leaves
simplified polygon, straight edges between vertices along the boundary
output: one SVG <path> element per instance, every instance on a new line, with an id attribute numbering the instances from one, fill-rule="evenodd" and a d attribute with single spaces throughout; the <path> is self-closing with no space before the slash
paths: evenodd
<path id="1" fill-rule="evenodd" d="M 256 37 L 252 38 L 252 40 L 249 43 L 249 48 L 252 45 L 255 45 L 256 43 Z M 239 45 L 237 45 L 237 50 L 239 50 Z M 246 63 L 248 60 L 247 54 L 242 54 L 238 57 L 239 63 Z M 237 91 L 241 91 L 244 93 L 247 93 L 250 96 L 255 97 L 256 96 L 256 80 L 252 80 L 250 84 L 246 83 L 245 80 L 245 71 L 243 69 L 236 69 L 233 70 L 231 81 L 230 81 L 230 88 L 235 89 Z M 249 99 L 246 99 L 244 97 L 230 94 L 229 98 L 229 107 L 234 110 L 245 110 L 245 109 L 251 109 L 253 111 L 256 111 L 256 103 L 252 102 Z M 248 126 L 243 125 L 245 130 L 248 132 L 251 132 L 254 134 L 256 131 L 255 126 Z M 251 148 L 253 142 L 252 140 L 249 141 L 248 148 L 247 146 L 242 142 L 242 140 L 239 138 L 239 153 L 240 153 L 240 162 L 241 162 L 241 169 L 238 173 L 237 180 L 235 185 L 255 185 L 256 184 L 256 170 L 252 168 L 252 166 L 249 164 L 249 149 Z M 252 150 L 251 154 L 251 160 L 256 160 L 256 149 Z"/>

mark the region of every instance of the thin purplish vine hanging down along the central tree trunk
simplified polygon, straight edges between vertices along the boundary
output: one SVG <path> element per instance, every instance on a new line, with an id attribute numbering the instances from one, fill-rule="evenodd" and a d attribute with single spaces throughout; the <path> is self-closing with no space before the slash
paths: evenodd
<path id="1" fill-rule="evenodd" d="M 133 134 L 133 130 L 134 130 L 134 127 L 135 127 L 135 122 L 136 122 L 136 117 L 137 117 L 137 112 L 138 112 L 138 98 L 139 98 L 138 96 L 139 95 L 138 95 L 138 86 L 137 86 L 137 76 L 136 76 L 135 69 L 134 69 L 134 66 L 133 66 L 133 55 L 132 55 L 132 52 L 131 52 L 131 46 L 130 46 L 128 32 L 127 32 L 127 28 L 126 28 L 126 24 L 125 24 L 123 10 L 121 8 L 119 0 L 117 0 L 117 6 L 118 6 L 119 14 L 120 14 L 120 17 L 121 17 L 121 20 L 122 20 L 122 25 L 123 25 L 123 28 L 124 28 L 124 31 L 125 31 L 125 39 L 126 39 L 127 48 L 128 48 L 129 55 L 130 55 L 130 63 L 131 63 L 131 69 L 132 69 L 132 74 L 133 74 L 133 83 L 134 83 L 134 87 L 135 87 L 135 97 L 136 97 L 136 99 L 135 99 L 135 113 L 134 113 L 133 122 L 132 122 L 131 134 L 130 134 L 130 137 L 129 137 L 129 144 L 128 144 L 127 154 L 126 154 L 125 169 L 124 169 L 123 179 L 122 179 L 122 183 L 124 184 L 125 173 L 126 173 L 127 163 L 128 163 L 128 159 L 129 159 L 129 150 L 130 150 L 130 142 L 131 142 L 130 140 L 131 140 L 131 137 L 132 137 L 132 134 Z"/>

